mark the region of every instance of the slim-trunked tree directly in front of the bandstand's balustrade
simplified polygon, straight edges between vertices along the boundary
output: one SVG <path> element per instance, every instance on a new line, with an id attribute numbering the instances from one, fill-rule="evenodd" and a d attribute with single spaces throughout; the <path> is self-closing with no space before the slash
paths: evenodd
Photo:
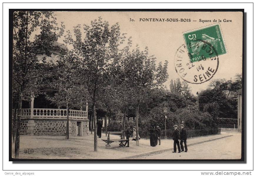
<path id="1" fill-rule="evenodd" d="M 87 102 L 87 90 L 77 79 L 79 67 L 74 62 L 75 55 L 68 52 L 61 60 L 57 61 L 59 67 L 51 79 L 51 87 L 57 89 L 53 97 L 46 96 L 53 104 L 67 107 L 67 129 L 66 139 L 69 139 L 69 109 L 70 107 L 81 107 Z"/>

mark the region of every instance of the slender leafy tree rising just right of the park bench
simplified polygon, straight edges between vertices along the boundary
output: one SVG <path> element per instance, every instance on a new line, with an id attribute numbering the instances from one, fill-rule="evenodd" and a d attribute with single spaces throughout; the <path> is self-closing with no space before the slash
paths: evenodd
<path id="1" fill-rule="evenodd" d="M 138 46 L 122 60 L 122 81 L 134 92 L 137 134 L 139 132 L 139 107 L 148 100 L 148 94 L 152 89 L 161 88 L 167 80 L 167 64 L 166 60 L 163 65 L 159 62 L 156 66 L 155 57 L 148 55 L 148 48 L 140 51 Z M 138 135 L 137 145 L 139 145 Z"/>

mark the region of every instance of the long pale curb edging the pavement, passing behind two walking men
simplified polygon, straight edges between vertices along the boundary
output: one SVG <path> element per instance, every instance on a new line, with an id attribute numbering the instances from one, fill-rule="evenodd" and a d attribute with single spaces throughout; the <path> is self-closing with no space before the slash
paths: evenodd
<path id="1" fill-rule="evenodd" d="M 187 146 L 196 145 L 196 144 L 205 143 L 205 142 L 210 142 L 210 141 L 215 141 L 215 140 L 217 140 L 217 139 L 222 139 L 222 138 L 226 138 L 226 137 L 230 137 L 230 136 L 233 136 L 233 135 L 223 136 L 223 137 L 221 137 L 221 138 L 209 139 L 209 140 L 206 140 L 206 141 L 200 141 L 200 142 L 190 143 L 190 144 L 187 144 Z M 139 154 L 139 155 L 127 156 L 127 157 L 119 158 L 119 159 L 134 159 L 134 158 L 138 158 L 138 157 L 142 157 L 142 156 L 146 156 L 146 155 L 152 155 L 152 154 L 155 154 L 155 153 L 162 153 L 162 152 L 171 151 L 172 149 L 173 149 L 173 148 L 167 148 L 167 149 L 162 149 L 162 150 L 157 150 L 157 151 L 142 153 L 142 154 Z"/>

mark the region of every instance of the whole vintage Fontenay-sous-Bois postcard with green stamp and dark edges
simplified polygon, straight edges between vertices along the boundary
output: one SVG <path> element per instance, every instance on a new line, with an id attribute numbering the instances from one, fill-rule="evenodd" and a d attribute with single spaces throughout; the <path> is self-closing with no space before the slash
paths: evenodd
<path id="1" fill-rule="evenodd" d="M 244 161 L 243 9 L 9 18 L 9 160 Z"/>

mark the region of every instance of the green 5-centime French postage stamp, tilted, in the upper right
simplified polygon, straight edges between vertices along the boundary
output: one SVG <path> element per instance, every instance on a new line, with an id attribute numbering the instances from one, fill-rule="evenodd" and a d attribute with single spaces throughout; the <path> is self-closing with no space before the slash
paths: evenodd
<path id="1" fill-rule="evenodd" d="M 191 62 L 227 53 L 218 24 L 183 35 Z"/>

